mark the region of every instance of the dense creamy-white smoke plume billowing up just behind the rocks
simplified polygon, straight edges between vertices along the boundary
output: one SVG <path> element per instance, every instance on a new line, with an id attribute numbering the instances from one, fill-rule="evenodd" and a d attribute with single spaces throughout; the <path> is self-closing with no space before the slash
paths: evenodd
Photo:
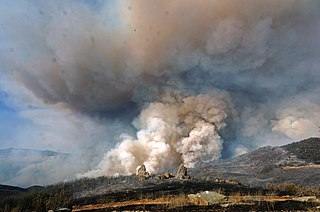
<path id="1" fill-rule="evenodd" d="M 154 102 L 134 121 L 137 139 L 126 137 L 110 150 L 96 169 L 84 176 L 133 174 L 145 164 L 156 173 L 183 162 L 219 159 L 223 140 L 219 133 L 228 116 L 234 116 L 225 94 L 197 95 L 170 102 Z"/>

